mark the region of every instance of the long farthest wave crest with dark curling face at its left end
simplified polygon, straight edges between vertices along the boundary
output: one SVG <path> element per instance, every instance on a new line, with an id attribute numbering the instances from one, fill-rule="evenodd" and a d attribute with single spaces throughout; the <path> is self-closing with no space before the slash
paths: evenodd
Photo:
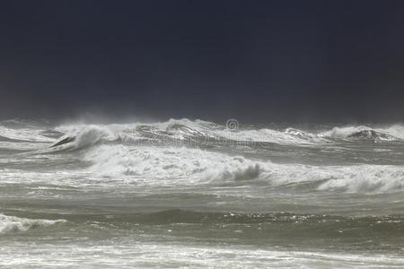
<path id="1" fill-rule="evenodd" d="M 329 143 L 323 137 L 302 130 L 287 128 L 273 129 L 240 129 L 230 130 L 225 126 L 202 120 L 171 119 L 163 123 L 109 126 L 59 126 L 56 129 L 66 137 L 77 136 L 75 147 L 103 141 L 121 141 L 123 143 L 154 142 L 154 143 L 206 143 L 242 142 L 242 143 L 279 143 L 279 144 L 314 144 Z"/>

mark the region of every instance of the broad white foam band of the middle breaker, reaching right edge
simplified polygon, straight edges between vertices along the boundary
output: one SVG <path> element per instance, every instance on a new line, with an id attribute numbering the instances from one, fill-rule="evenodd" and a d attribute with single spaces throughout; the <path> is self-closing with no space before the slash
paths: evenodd
<path id="1" fill-rule="evenodd" d="M 151 186 L 319 182 L 319 190 L 387 192 L 404 187 L 404 168 L 390 165 L 309 166 L 253 161 L 189 148 L 101 145 L 85 154 L 100 178 Z"/>

